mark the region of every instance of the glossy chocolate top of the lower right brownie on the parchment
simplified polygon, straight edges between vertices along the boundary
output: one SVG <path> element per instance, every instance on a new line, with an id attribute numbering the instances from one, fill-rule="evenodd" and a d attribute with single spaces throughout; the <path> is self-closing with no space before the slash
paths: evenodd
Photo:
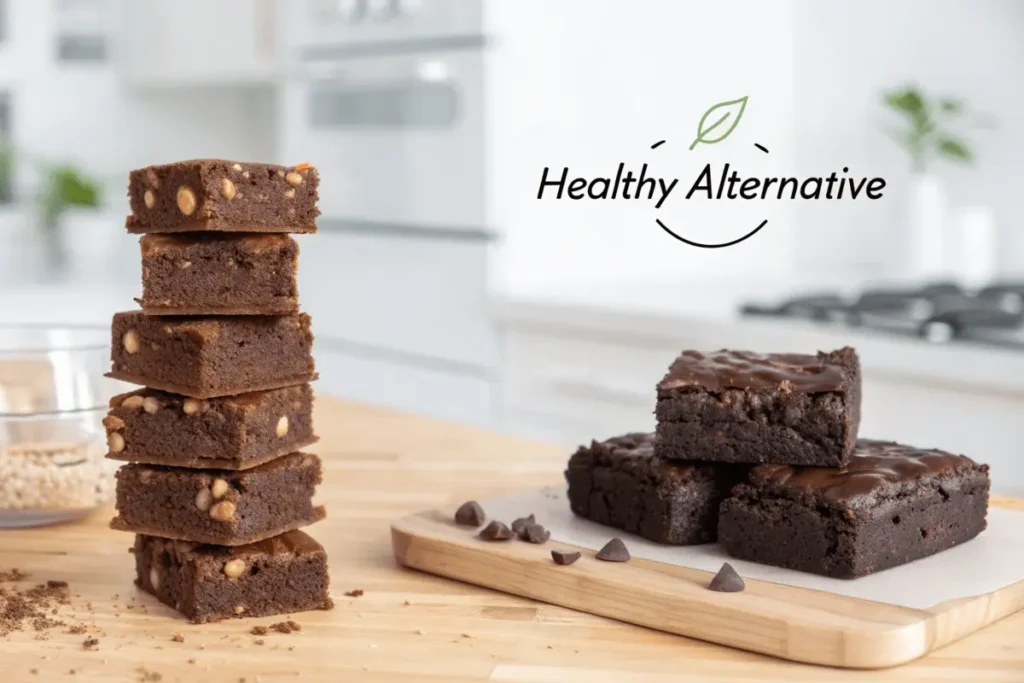
<path id="1" fill-rule="evenodd" d="M 887 482 L 913 481 L 927 475 L 952 474 L 976 466 L 966 456 L 862 438 L 857 440 L 846 467 L 759 465 L 751 471 L 751 481 L 804 488 L 827 500 L 839 501 L 869 494 Z"/>

